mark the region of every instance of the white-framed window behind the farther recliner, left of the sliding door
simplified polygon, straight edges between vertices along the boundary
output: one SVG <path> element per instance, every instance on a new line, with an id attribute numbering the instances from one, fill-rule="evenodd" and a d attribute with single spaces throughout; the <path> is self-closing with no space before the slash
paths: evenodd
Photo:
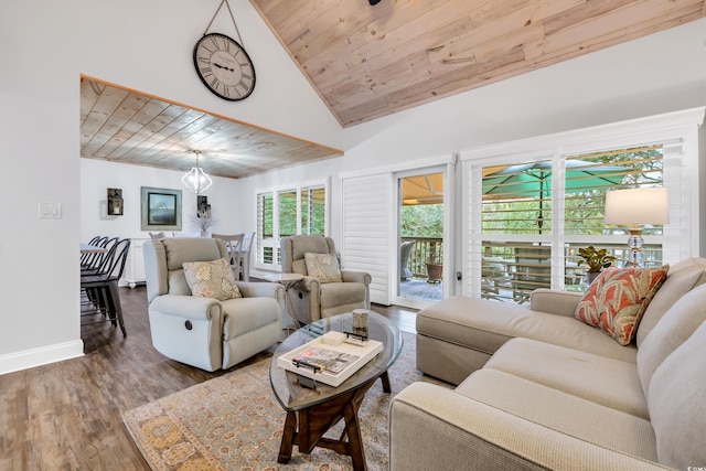
<path id="1" fill-rule="evenodd" d="M 260 268 L 278 268 L 279 240 L 299 234 L 327 234 L 327 183 L 257 191 L 257 254 Z"/>

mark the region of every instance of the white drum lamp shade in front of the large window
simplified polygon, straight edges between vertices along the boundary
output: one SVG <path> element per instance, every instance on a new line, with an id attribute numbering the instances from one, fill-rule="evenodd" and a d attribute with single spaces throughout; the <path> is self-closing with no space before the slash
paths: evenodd
<path id="1" fill-rule="evenodd" d="M 668 195 L 664 186 L 613 190 L 606 193 L 606 224 L 666 224 Z"/>

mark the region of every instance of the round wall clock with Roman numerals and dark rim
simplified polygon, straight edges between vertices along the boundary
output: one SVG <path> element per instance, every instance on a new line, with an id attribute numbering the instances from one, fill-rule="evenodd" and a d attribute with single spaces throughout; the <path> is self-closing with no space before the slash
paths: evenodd
<path id="1" fill-rule="evenodd" d="M 255 67 L 237 41 L 220 33 L 204 34 L 194 47 L 201 82 L 223 99 L 245 99 L 255 89 Z"/>

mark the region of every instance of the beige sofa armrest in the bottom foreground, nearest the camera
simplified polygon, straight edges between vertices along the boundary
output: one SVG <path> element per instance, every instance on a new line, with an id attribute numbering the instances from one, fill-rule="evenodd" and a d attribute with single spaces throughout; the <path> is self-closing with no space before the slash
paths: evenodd
<path id="1" fill-rule="evenodd" d="M 389 469 L 665 470 L 505 413 L 441 386 L 414 383 L 389 413 Z"/>

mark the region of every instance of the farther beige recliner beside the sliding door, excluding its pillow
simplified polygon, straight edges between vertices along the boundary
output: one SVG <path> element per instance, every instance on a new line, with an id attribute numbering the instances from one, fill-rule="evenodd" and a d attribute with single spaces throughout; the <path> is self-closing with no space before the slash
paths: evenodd
<path id="1" fill-rule="evenodd" d="M 310 323 L 353 309 L 370 309 L 370 274 L 341 270 L 342 282 L 321 282 L 307 271 L 304 254 L 336 256 L 331 237 L 282 237 L 280 249 L 282 272 L 304 276 L 288 292 L 299 321 Z"/>

